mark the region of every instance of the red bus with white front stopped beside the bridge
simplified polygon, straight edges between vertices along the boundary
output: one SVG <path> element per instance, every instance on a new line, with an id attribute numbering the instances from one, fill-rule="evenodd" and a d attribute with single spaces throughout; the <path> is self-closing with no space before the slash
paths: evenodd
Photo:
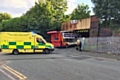
<path id="1" fill-rule="evenodd" d="M 55 47 L 69 47 L 76 44 L 75 34 L 65 31 L 49 31 L 51 42 Z"/>

